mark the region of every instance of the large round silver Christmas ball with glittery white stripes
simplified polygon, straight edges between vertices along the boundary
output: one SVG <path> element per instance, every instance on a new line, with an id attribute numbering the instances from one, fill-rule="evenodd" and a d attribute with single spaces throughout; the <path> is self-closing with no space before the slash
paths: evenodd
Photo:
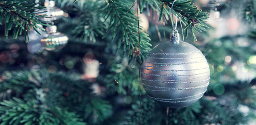
<path id="1" fill-rule="evenodd" d="M 209 80 L 205 56 L 186 42 L 158 44 L 141 67 L 141 81 L 148 96 L 170 108 L 197 102 L 206 92 Z"/>

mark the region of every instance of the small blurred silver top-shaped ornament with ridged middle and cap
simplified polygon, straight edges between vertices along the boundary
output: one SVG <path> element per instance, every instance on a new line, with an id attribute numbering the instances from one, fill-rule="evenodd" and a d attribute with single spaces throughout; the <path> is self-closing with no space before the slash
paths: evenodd
<path id="1" fill-rule="evenodd" d="M 68 36 L 57 31 L 56 26 L 46 28 L 48 34 L 41 39 L 41 45 L 48 51 L 61 49 L 68 43 Z"/>

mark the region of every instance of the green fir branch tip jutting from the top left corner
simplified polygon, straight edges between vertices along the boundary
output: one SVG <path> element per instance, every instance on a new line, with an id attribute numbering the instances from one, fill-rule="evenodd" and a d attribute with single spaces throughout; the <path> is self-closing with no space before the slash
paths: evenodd
<path id="1" fill-rule="evenodd" d="M 5 22 L 5 36 L 8 37 L 9 31 L 13 29 L 13 38 L 17 38 L 18 35 L 21 35 L 24 32 L 25 41 L 29 41 L 29 31 L 33 28 L 38 32 L 38 28 L 44 30 L 41 27 L 38 27 L 37 24 L 42 24 L 48 26 L 44 21 L 39 21 L 39 18 L 46 18 L 46 15 L 40 15 L 40 9 L 42 6 L 35 7 L 40 3 L 35 3 L 34 0 L 23 1 L 0 1 L 0 23 Z M 37 11 L 34 11 L 36 10 Z M 39 32 L 38 32 L 39 33 Z M 39 33 L 40 34 L 40 33 Z"/>

